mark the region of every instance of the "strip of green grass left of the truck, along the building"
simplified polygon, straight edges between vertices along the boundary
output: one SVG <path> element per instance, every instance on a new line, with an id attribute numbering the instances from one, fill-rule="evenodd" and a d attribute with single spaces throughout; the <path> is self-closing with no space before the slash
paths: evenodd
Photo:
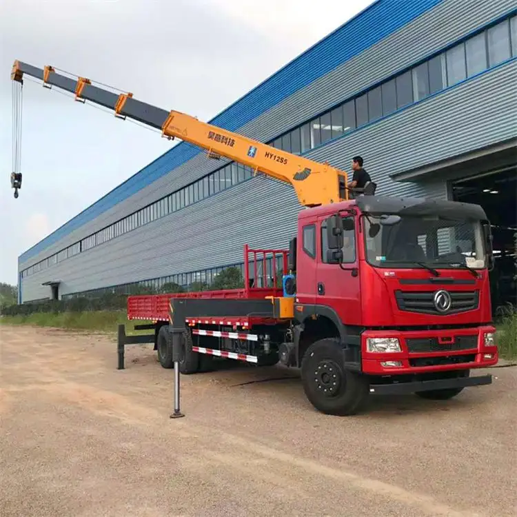
<path id="1" fill-rule="evenodd" d="M 84 312 L 38 312 L 28 316 L 2 316 L 3 325 L 33 325 L 37 327 L 55 327 L 68 330 L 90 330 L 96 332 L 116 333 L 117 326 L 125 323 L 126 334 L 148 334 L 150 330 L 133 330 L 134 325 L 150 321 L 128 321 L 125 311 L 84 311 Z"/>

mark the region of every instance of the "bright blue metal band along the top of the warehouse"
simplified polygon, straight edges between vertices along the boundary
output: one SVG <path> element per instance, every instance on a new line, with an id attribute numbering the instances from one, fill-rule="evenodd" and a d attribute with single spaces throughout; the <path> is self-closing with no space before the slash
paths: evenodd
<path id="1" fill-rule="evenodd" d="M 239 130 L 274 105 L 334 70 L 338 65 L 361 54 L 441 1 L 443 0 L 375 1 L 234 102 L 210 123 L 230 131 Z M 18 262 L 27 261 L 200 152 L 199 148 L 179 143 L 21 254 Z"/>

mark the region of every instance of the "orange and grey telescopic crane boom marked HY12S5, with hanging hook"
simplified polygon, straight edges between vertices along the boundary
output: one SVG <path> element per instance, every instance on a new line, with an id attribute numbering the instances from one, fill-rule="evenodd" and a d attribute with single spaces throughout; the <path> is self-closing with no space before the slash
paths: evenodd
<path id="1" fill-rule="evenodd" d="M 178 138 L 197 145 L 205 149 L 211 158 L 219 159 L 225 156 L 248 165 L 255 172 L 262 172 L 267 176 L 290 183 L 296 191 L 298 201 L 305 207 L 338 203 L 348 199 L 347 174 L 328 163 L 318 163 L 303 156 L 276 149 L 247 136 L 201 122 L 185 113 L 156 108 L 134 99 L 132 93 L 114 93 L 93 85 L 90 79 L 84 77 L 71 79 L 58 74 L 51 66 L 41 69 L 21 61 L 14 61 L 11 79 L 19 83 L 20 92 L 25 74 L 43 81 L 43 86 L 47 88 L 56 86 L 75 94 L 77 101 L 91 101 L 113 110 L 115 116 L 121 119 L 129 117 L 161 130 L 162 135 L 169 139 Z M 18 104 L 21 109 L 21 102 Z M 18 122 L 19 120 L 21 120 L 20 115 L 14 117 L 15 124 L 21 123 Z M 15 145 L 19 148 L 19 142 Z M 11 174 L 14 197 L 18 196 L 18 189 L 21 188 L 21 172 L 17 170 L 17 163 L 19 160 L 15 161 Z"/>

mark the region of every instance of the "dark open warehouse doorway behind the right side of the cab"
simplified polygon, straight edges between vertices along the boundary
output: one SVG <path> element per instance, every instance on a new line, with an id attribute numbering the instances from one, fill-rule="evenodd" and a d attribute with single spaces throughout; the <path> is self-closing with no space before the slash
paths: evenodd
<path id="1" fill-rule="evenodd" d="M 494 270 L 490 272 L 494 315 L 498 307 L 517 305 L 517 167 L 495 170 L 452 182 L 452 199 L 476 203 L 485 210 L 494 237 Z"/>

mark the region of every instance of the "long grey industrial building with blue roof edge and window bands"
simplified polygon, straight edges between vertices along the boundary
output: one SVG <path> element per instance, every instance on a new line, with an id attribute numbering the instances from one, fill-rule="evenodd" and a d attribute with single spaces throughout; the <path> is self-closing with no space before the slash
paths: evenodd
<path id="1" fill-rule="evenodd" d="M 494 305 L 515 302 L 515 5 L 378 0 L 210 122 L 349 172 L 361 154 L 378 194 L 479 203 Z M 21 254 L 19 302 L 210 284 L 245 243 L 285 249 L 299 210 L 290 185 L 180 143 Z"/>

